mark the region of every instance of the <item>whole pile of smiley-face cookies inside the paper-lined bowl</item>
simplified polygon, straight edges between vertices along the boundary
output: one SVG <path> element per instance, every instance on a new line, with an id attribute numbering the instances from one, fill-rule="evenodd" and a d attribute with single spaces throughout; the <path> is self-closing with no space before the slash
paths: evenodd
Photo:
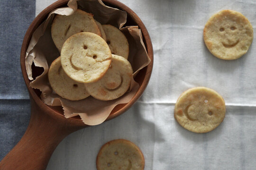
<path id="1" fill-rule="evenodd" d="M 55 93 L 72 101 L 90 95 L 108 101 L 128 91 L 133 78 L 129 44 L 118 28 L 101 26 L 77 9 L 70 16 L 56 15 L 51 32 L 61 53 L 48 71 Z"/>

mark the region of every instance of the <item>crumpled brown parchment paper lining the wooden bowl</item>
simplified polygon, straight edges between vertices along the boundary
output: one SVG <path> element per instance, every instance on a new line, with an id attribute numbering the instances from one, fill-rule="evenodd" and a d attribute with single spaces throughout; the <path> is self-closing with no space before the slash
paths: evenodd
<path id="1" fill-rule="evenodd" d="M 53 10 L 46 21 L 32 35 L 25 59 L 27 76 L 30 80 L 33 80 L 31 68 L 33 62 L 37 67 L 43 67 L 44 72 L 30 82 L 32 88 L 39 89 L 42 92 L 41 99 L 43 102 L 50 106 L 62 106 L 65 118 L 79 115 L 85 124 L 98 125 L 108 118 L 111 110 L 116 105 L 128 103 L 137 92 L 139 85 L 132 80 L 129 92 L 112 101 L 100 101 L 91 96 L 80 101 L 70 101 L 60 97 L 52 90 L 47 77 L 48 66 L 60 56 L 60 53 L 51 37 L 51 23 L 55 14 L 71 15 L 77 8 L 92 13 L 101 24 L 110 24 L 121 28 L 126 23 L 126 12 L 107 7 L 101 0 L 70 0 L 68 7 Z M 137 26 L 127 26 L 121 28 L 121 31 L 126 35 L 129 42 L 128 60 L 132 65 L 133 75 L 135 76 L 140 69 L 150 63 L 150 59 L 143 43 L 141 31 Z"/>

